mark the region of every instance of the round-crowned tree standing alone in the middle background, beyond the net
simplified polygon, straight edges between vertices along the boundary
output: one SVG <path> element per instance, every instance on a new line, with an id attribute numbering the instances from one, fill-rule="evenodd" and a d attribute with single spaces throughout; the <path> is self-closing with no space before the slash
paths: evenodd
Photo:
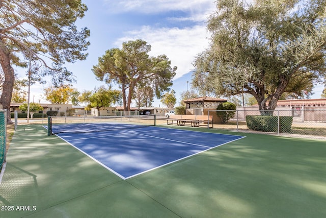
<path id="1" fill-rule="evenodd" d="M 130 110 L 134 88 L 140 83 L 152 87 L 157 98 L 172 85 L 177 67 L 171 67 L 166 55 L 149 57 L 150 51 L 151 45 L 141 39 L 123 42 L 122 49 L 107 50 L 93 66 L 98 80 L 119 85 L 125 111 Z"/>

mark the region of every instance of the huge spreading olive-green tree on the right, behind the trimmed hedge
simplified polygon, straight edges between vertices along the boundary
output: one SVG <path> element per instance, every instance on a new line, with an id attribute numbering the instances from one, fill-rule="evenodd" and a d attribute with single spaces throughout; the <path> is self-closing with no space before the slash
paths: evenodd
<path id="1" fill-rule="evenodd" d="M 323 78 L 326 1 L 216 3 L 207 25 L 210 47 L 194 62 L 194 87 L 216 95 L 249 93 L 260 110 L 274 110 L 284 91 Z"/>

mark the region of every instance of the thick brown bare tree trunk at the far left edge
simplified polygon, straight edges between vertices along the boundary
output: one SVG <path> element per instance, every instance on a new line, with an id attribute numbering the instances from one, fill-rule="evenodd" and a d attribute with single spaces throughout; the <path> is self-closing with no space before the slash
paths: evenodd
<path id="1" fill-rule="evenodd" d="M 14 89 L 15 75 L 14 69 L 10 65 L 11 56 L 5 45 L 0 42 L 0 63 L 5 74 L 5 82 L 3 84 L 3 91 L 0 98 L 0 104 L 3 109 L 8 110 L 7 122 L 12 124 L 10 116 L 10 102 L 12 97 L 12 91 Z"/>

